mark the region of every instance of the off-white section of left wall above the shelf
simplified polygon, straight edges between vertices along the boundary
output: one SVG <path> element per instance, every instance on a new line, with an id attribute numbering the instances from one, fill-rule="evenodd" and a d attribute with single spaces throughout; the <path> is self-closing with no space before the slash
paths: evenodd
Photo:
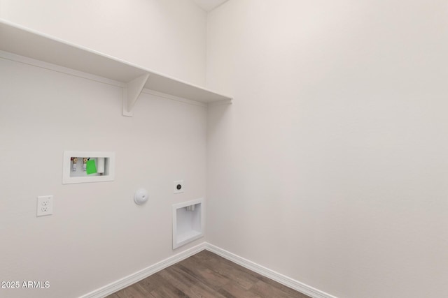
<path id="1" fill-rule="evenodd" d="M 207 15 L 193 1 L 0 0 L 0 17 L 204 86 Z"/>

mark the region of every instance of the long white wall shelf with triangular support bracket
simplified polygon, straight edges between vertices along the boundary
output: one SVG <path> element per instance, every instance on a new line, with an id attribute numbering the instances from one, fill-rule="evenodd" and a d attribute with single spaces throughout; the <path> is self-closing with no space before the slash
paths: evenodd
<path id="1" fill-rule="evenodd" d="M 230 102 L 232 100 L 230 96 L 218 94 L 2 19 L 0 19 L 0 50 L 106 77 L 125 84 L 133 82 L 132 87 L 127 86 L 132 89 L 127 91 L 127 97 L 131 98 L 125 98 L 131 106 L 137 100 L 134 95 L 137 94 L 138 97 L 143 88 L 200 103 Z M 145 80 L 146 78 L 147 80 Z"/>

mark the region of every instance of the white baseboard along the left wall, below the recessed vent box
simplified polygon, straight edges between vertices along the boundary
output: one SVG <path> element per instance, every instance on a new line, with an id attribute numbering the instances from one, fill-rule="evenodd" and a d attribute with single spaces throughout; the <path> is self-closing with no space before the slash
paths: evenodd
<path id="1" fill-rule="evenodd" d="M 165 260 L 155 263 L 145 269 L 141 269 L 133 274 L 130 274 L 124 278 L 119 279 L 118 281 L 114 281 L 113 283 L 109 283 L 109 285 L 105 285 L 102 288 L 94 290 L 90 293 L 87 293 L 80 298 L 102 298 L 107 295 L 111 295 L 114 292 L 117 292 L 121 289 L 126 288 L 129 285 L 137 283 L 148 276 L 157 273 L 158 271 L 165 269 L 171 265 L 176 264 L 177 262 L 181 262 L 181 260 L 185 260 L 186 258 L 195 255 L 201 251 L 204 251 L 206 243 L 203 242 L 197 246 L 193 246 L 192 248 L 188 248 L 186 251 L 178 253 L 177 255 L 173 255 Z"/>

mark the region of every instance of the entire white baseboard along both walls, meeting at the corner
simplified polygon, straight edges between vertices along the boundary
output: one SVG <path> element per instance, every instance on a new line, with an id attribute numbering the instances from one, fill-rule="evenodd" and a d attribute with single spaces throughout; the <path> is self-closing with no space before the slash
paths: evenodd
<path id="1" fill-rule="evenodd" d="M 321 290 L 317 290 L 316 288 L 313 288 L 309 285 L 300 283 L 300 281 L 295 281 L 293 278 L 289 278 L 288 276 L 284 276 L 283 274 L 279 274 L 276 271 L 267 269 L 266 267 L 258 265 L 252 261 L 246 260 L 245 258 L 241 258 L 239 255 L 235 255 L 234 253 L 225 251 L 224 249 L 209 244 L 207 242 L 198 244 L 197 246 L 189 248 L 186 251 L 178 253 L 177 255 L 173 255 L 172 257 L 157 262 L 154 265 L 146 267 L 145 269 L 141 269 L 140 271 L 125 276 L 124 278 L 121 278 L 118 281 L 109 283 L 109 285 L 105 285 L 104 287 L 94 290 L 86 295 L 83 295 L 80 298 L 106 297 L 107 295 L 111 295 L 112 293 L 117 292 L 123 288 L 126 288 L 127 286 L 132 285 L 133 283 L 137 283 L 138 281 L 141 281 L 142 279 L 152 274 L 155 274 L 156 272 L 162 269 L 174 265 L 177 262 L 180 262 L 181 260 L 189 258 L 190 256 L 195 255 L 200 251 L 204 251 L 204 249 L 207 249 L 207 251 L 211 251 L 212 253 L 216 253 L 216 255 L 221 255 L 221 257 L 227 260 L 230 260 L 238 265 L 241 265 L 242 267 L 250 269 L 258 274 L 261 274 L 262 276 L 271 278 L 273 281 L 281 283 L 282 285 L 286 285 L 288 288 L 301 292 L 304 295 L 308 295 L 311 298 L 337 298 L 328 293 L 322 292 Z"/>

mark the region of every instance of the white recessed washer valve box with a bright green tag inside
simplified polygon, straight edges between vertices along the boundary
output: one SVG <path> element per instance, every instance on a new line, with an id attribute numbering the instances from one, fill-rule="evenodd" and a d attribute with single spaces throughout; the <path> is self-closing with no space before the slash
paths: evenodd
<path id="1" fill-rule="evenodd" d="M 113 181 L 115 153 L 64 151 L 62 184 Z"/>

